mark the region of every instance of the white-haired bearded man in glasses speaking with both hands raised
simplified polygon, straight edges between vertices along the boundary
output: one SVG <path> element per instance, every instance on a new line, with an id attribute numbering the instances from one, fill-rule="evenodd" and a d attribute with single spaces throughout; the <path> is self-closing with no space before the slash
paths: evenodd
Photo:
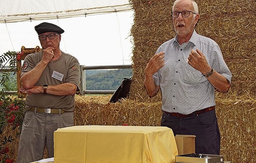
<path id="1" fill-rule="evenodd" d="M 194 0 L 176 0 L 176 37 L 164 42 L 145 68 L 149 96 L 162 91 L 161 126 L 174 134 L 196 135 L 196 153 L 220 153 L 215 89 L 227 92 L 231 72 L 216 42 L 194 29 L 200 15 Z"/>

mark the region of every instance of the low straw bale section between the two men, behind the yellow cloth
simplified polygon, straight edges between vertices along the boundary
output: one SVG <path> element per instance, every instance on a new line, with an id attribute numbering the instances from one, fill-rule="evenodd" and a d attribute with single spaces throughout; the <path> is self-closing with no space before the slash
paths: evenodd
<path id="1" fill-rule="evenodd" d="M 161 102 L 129 99 L 109 103 L 111 96 L 77 96 L 75 125 L 159 126 Z"/>

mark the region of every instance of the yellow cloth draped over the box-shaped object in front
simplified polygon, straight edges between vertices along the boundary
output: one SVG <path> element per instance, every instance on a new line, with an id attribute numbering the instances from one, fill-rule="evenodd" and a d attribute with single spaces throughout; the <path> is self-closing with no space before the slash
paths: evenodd
<path id="1" fill-rule="evenodd" d="M 158 126 L 72 126 L 54 132 L 54 163 L 173 163 L 173 132 Z"/>

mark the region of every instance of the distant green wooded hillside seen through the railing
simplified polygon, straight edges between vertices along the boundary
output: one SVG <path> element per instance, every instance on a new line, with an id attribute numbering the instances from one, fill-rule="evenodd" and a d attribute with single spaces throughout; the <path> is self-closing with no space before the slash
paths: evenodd
<path id="1" fill-rule="evenodd" d="M 132 69 L 86 70 L 86 90 L 116 90 L 124 78 L 132 76 Z M 10 74 L 6 83 L 9 91 L 17 91 L 16 74 Z M 1 79 L 1 76 L 0 76 Z M 2 86 L 0 85 L 2 89 Z"/>

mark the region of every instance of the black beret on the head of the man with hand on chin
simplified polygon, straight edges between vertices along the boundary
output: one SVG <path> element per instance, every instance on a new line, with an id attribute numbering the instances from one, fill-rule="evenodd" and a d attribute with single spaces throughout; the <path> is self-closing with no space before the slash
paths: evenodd
<path id="1" fill-rule="evenodd" d="M 62 34 L 64 32 L 64 30 L 59 26 L 48 22 L 42 22 L 41 24 L 36 25 L 35 30 L 38 35 L 46 32 L 56 32 L 58 34 Z"/>

